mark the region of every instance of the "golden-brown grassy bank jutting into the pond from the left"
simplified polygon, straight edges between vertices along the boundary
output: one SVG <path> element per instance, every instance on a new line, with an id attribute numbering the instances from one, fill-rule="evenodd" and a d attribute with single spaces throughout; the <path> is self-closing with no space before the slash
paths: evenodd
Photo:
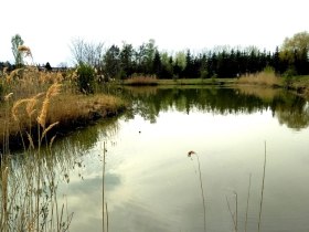
<path id="1" fill-rule="evenodd" d="M 26 67 L 4 73 L 0 84 L 3 92 L 0 105 L 1 148 L 4 144 L 23 144 L 22 140 L 29 140 L 26 133 L 36 131 L 40 127 L 44 129 L 55 124 L 51 130 L 67 131 L 119 114 L 126 107 L 126 103 L 116 96 L 78 93 L 73 73 L 45 73 Z M 38 139 L 35 134 L 32 134 L 34 140 Z"/>

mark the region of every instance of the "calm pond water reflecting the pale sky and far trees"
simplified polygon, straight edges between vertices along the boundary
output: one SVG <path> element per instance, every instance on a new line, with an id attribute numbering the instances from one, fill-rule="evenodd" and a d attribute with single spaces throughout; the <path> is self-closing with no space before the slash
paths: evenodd
<path id="1" fill-rule="evenodd" d="M 117 94 L 129 112 L 54 144 L 71 154 L 57 189 L 70 231 L 309 230 L 303 98 L 245 87 Z"/>

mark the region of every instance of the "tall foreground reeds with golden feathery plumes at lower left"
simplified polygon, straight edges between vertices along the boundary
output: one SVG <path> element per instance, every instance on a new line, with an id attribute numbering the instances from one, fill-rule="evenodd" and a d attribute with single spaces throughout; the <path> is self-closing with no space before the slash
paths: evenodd
<path id="1" fill-rule="evenodd" d="M 43 139 L 57 125 L 57 122 L 47 125 L 46 115 L 50 101 L 58 91 L 57 83 L 51 85 L 41 108 L 36 108 L 36 143 L 28 131 L 31 145 L 28 149 L 23 141 L 23 152 L 20 156 L 11 156 L 10 149 L 6 148 L 7 152 L 1 157 L 0 231 L 67 231 L 70 226 L 73 214 L 64 211 L 64 203 L 58 204 L 54 167 L 50 166 L 51 162 L 41 152 Z M 35 97 L 20 99 L 13 104 L 12 117 L 15 122 L 20 122 L 23 105 L 24 115 L 31 119 L 36 105 L 34 99 Z M 23 137 L 21 130 L 20 135 Z M 51 148 L 52 140 L 45 141 L 50 143 Z M 53 158 L 52 149 L 49 151 L 50 158 Z"/>

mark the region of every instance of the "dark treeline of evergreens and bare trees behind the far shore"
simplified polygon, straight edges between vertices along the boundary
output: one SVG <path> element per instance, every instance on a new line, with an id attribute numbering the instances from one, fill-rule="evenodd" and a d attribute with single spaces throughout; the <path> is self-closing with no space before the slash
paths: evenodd
<path id="1" fill-rule="evenodd" d="M 305 32 L 305 35 L 307 46 L 298 45 L 303 43 L 292 38 L 286 39 L 284 45 L 274 52 L 255 46 L 220 46 L 199 53 L 187 50 L 171 54 L 160 52 L 154 40 L 138 48 L 124 43 L 121 48 L 114 44 L 106 50 L 103 44 L 77 40 L 72 52 L 77 65 L 89 64 L 108 78 L 125 80 L 135 74 L 156 75 L 158 78 L 237 77 L 260 72 L 266 66 L 271 66 L 278 74 L 306 75 L 309 74 L 309 34 Z M 290 41 L 295 43 L 292 46 Z"/>

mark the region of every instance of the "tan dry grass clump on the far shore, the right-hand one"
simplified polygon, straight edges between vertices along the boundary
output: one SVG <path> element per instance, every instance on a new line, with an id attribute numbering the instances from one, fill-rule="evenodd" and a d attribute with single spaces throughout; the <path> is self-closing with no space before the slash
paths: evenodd
<path id="1" fill-rule="evenodd" d="M 239 77 L 238 84 L 279 86 L 281 84 L 278 76 L 273 72 L 260 72 L 257 74 L 243 75 Z"/>

